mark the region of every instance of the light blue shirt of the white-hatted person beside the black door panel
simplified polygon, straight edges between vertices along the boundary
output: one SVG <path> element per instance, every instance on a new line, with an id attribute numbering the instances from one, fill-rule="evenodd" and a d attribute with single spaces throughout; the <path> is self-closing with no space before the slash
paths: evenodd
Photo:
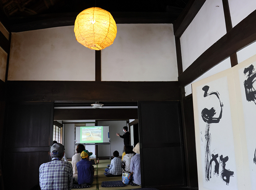
<path id="1" fill-rule="evenodd" d="M 141 185 L 140 154 L 138 153 L 131 158 L 130 172 L 133 172 L 133 182 L 135 184 Z"/>

